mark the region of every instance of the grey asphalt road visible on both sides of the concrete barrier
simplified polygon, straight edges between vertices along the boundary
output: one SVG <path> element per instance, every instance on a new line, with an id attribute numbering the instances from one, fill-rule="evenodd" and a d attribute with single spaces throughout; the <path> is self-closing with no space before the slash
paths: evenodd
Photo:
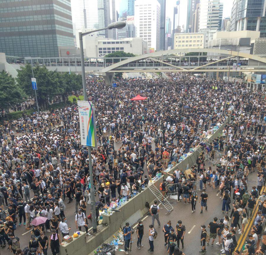
<path id="1" fill-rule="evenodd" d="M 121 143 L 115 143 L 115 150 L 118 150 L 121 146 Z M 154 149 L 154 143 L 152 143 L 153 149 Z M 58 162 L 60 163 L 60 162 Z M 146 164 L 145 164 L 146 165 Z M 208 166 L 208 163 L 206 162 L 206 168 Z M 147 173 L 146 167 L 145 167 L 145 173 Z M 251 186 L 255 184 L 257 186 L 257 176 L 256 172 L 249 175 L 249 189 Z M 201 192 L 198 191 L 198 196 L 200 196 Z M 207 194 L 209 196 L 208 199 L 208 211 L 204 211 L 203 214 L 200 214 L 200 203 L 197 203 L 196 206 L 196 212 L 193 214 L 191 213 L 191 205 L 184 204 L 183 202 L 176 202 L 173 200 L 171 203 L 174 207 L 174 210 L 171 212 L 170 215 L 165 215 L 166 210 L 160 205 L 161 211 L 160 211 L 160 221 L 161 225 L 167 223 L 168 220 L 171 220 L 172 225 L 175 228 L 175 225 L 177 224 L 178 220 L 182 220 L 183 224 L 186 226 L 186 235 L 184 238 L 185 242 L 185 248 L 184 253 L 187 254 L 197 254 L 198 251 L 200 251 L 200 225 L 205 224 L 206 226 L 210 221 L 213 221 L 213 217 L 222 218 L 223 214 L 221 214 L 221 207 L 222 207 L 222 200 L 219 199 L 219 196 L 216 196 L 216 191 L 213 191 L 212 189 L 207 188 Z M 33 194 L 31 194 L 31 197 Z M 98 200 L 98 195 L 96 196 L 96 201 Z M 65 201 L 67 202 L 67 200 Z M 67 217 L 67 224 L 69 227 L 71 227 L 70 234 L 73 234 L 74 231 L 76 231 L 75 227 L 75 200 L 70 203 L 66 204 L 66 210 L 65 215 Z M 6 208 L 6 207 L 5 207 Z M 6 208 L 7 209 L 7 208 Z M 87 215 L 90 213 L 90 205 L 87 206 Z M 23 221 L 23 220 L 22 220 Z M 92 221 L 88 220 L 89 225 L 88 227 L 92 227 Z M 151 218 L 147 217 L 144 220 L 144 226 L 145 226 L 145 236 L 143 239 L 143 245 L 145 246 L 142 248 L 144 249 L 145 253 L 147 253 L 147 247 L 148 247 L 148 236 L 147 236 L 147 230 L 148 226 L 151 224 Z M 155 228 L 158 231 L 158 238 L 155 240 L 155 254 L 166 254 L 166 247 L 164 246 L 164 238 L 163 238 L 163 232 L 162 232 L 162 226 L 158 228 L 158 224 L 155 221 Z M 194 227 L 195 226 L 195 227 Z M 194 228 L 193 228 L 194 227 Z M 193 228 L 193 229 L 192 229 Z M 192 229 L 192 230 L 191 230 Z M 188 232 L 191 230 L 191 233 L 188 234 Z M 50 234 L 50 233 L 46 233 Z M 15 231 L 15 235 L 20 238 L 20 245 L 23 248 L 25 248 L 28 245 L 28 242 L 30 241 L 30 230 L 25 230 L 25 226 L 23 224 L 21 226 L 18 226 L 17 224 L 17 230 Z M 133 250 L 132 252 L 140 253 L 136 248 L 137 239 L 136 235 L 133 236 L 133 241 L 135 242 L 132 244 Z M 237 237 L 238 239 L 239 237 Z M 119 247 L 121 248 L 121 247 Z M 220 247 L 217 245 L 214 245 L 214 247 L 208 246 L 207 248 L 207 254 L 218 254 L 218 251 L 220 251 Z M 1 249 L 1 254 L 7 255 L 10 254 L 6 248 Z M 116 254 L 121 254 L 120 251 L 117 251 Z M 51 255 L 51 250 L 48 250 L 48 255 Z M 84 254 L 85 255 L 85 254 Z"/>

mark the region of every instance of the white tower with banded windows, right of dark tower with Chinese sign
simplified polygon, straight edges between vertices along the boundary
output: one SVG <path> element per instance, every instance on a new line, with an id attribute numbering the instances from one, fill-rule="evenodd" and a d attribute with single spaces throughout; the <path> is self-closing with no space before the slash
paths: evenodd
<path id="1" fill-rule="evenodd" d="M 223 3 L 220 0 L 200 0 L 200 29 L 221 30 L 223 19 Z"/>

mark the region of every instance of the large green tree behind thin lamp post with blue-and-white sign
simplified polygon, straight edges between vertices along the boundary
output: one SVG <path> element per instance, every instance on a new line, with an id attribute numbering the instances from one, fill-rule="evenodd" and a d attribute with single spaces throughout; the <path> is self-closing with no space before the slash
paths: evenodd
<path id="1" fill-rule="evenodd" d="M 56 71 L 48 71 L 45 66 L 37 66 L 33 69 L 34 77 L 37 81 L 37 99 L 43 109 L 47 109 L 48 102 L 56 95 L 62 95 L 64 86 L 62 76 Z M 23 88 L 28 96 L 34 97 L 35 93 L 31 85 L 31 66 L 27 64 L 18 70 L 17 83 Z"/>

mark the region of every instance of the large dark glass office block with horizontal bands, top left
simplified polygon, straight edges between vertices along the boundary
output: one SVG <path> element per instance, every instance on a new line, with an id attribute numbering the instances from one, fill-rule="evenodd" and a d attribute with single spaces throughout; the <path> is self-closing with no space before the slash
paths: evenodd
<path id="1" fill-rule="evenodd" d="M 70 0 L 0 1 L 0 52 L 56 57 L 74 49 Z"/>

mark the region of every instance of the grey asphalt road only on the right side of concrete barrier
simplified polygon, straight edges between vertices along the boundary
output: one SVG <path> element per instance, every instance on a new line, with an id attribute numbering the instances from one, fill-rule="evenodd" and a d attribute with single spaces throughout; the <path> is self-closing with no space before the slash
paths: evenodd
<path id="1" fill-rule="evenodd" d="M 253 186 L 254 181 L 257 179 L 257 173 L 252 173 L 249 175 L 249 186 Z M 251 182 L 252 181 L 252 182 Z M 197 191 L 198 196 L 200 196 L 201 191 Z M 208 210 L 203 209 L 203 214 L 200 214 L 200 203 L 197 202 L 196 205 L 196 212 L 192 213 L 192 208 L 190 204 L 184 204 L 183 202 L 176 202 L 176 200 L 171 200 L 173 211 L 169 215 L 165 215 L 167 210 L 160 205 L 160 213 L 159 213 L 159 220 L 161 223 L 161 227 L 158 227 L 158 223 L 155 220 L 155 229 L 158 232 L 158 237 L 154 240 L 154 254 L 167 254 L 167 248 L 164 246 L 164 235 L 163 235 L 163 225 L 167 224 L 169 220 L 171 220 L 171 225 L 175 229 L 177 221 L 182 220 L 182 224 L 186 227 L 186 233 L 184 236 L 184 249 L 181 249 L 184 254 L 199 254 L 199 251 L 201 250 L 200 247 L 200 234 L 201 234 L 201 228 L 200 226 L 202 224 L 207 225 L 213 221 L 214 217 L 217 217 L 218 220 L 220 218 L 224 217 L 224 214 L 221 213 L 222 208 L 222 200 L 219 199 L 219 195 L 217 195 L 216 191 L 213 191 L 209 186 L 207 186 L 206 193 L 208 194 Z M 232 207 L 232 206 L 231 206 Z M 230 216 L 230 214 L 229 214 Z M 148 254 L 147 249 L 150 248 L 149 246 L 149 236 L 148 236 L 148 230 L 149 225 L 152 224 L 151 216 L 145 216 L 143 218 L 143 225 L 144 225 L 144 236 L 142 239 L 142 245 L 144 246 L 141 248 L 141 250 L 137 249 L 137 235 L 134 233 L 132 235 L 132 254 Z M 135 225 L 134 225 L 135 226 Z M 134 227 L 133 226 L 133 227 Z M 134 228 L 136 230 L 136 227 Z M 207 229 L 209 233 L 209 229 Z M 236 240 L 239 239 L 239 234 L 236 234 Z M 218 237 L 215 240 L 215 243 L 218 242 Z M 205 254 L 207 255 L 216 255 L 220 254 L 221 246 L 218 246 L 214 243 L 214 246 L 211 245 L 206 246 L 207 252 Z M 120 249 L 124 249 L 124 246 L 119 246 Z M 180 243 L 181 248 L 181 243 Z M 118 251 L 116 252 L 117 255 L 124 254 L 124 252 Z M 130 254 L 130 252 L 129 252 Z"/>

